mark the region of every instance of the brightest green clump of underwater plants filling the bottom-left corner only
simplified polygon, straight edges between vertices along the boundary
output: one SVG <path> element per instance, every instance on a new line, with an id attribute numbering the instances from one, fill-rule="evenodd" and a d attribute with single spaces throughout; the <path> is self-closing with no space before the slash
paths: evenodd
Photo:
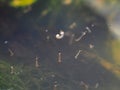
<path id="1" fill-rule="evenodd" d="M 10 64 L 0 61 L 0 90 L 25 90 L 17 73 L 11 74 Z"/>

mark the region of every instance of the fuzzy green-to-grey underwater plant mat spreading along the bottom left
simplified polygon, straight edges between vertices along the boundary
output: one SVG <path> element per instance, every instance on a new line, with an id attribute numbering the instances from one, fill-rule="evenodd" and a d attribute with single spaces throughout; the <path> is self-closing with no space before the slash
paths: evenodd
<path id="1" fill-rule="evenodd" d="M 15 66 L 11 73 L 10 65 L 0 61 L 0 90 L 73 90 L 76 83 L 45 67 Z"/>

